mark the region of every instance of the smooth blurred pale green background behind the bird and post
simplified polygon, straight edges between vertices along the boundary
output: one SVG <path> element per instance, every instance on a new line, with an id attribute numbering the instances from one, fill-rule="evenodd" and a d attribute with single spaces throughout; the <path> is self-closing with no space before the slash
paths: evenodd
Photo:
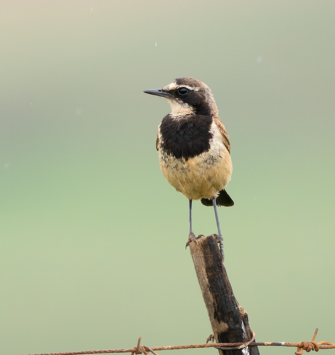
<path id="1" fill-rule="evenodd" d="M 169 106 L 142 93 L 181 76 L 232 144 L 225 266 L 257 341 L 335 342 L 334 21 L 333 0 L 2 2 L 0 354 L 211 333 L 155 149 Z M 216 232 L 200 202 L 194 231 Z"/>

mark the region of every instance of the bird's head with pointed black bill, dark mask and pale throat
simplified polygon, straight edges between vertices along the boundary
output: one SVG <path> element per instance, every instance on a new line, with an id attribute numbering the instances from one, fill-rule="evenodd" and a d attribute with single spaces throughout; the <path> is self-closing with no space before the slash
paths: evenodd
<path id="1" fill-rule="evenodd" d="M 144 90 L 145 93 L 165 97 L 172 115 L 217 115 L 217 107 L 210 88 L 193 78 L 177 78 L 161 89 Z"/>

